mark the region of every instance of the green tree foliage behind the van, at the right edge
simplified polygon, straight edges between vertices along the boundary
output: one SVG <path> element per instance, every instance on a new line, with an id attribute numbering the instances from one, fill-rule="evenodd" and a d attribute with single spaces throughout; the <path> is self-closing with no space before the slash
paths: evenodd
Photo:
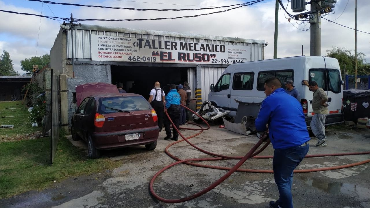
<path id="1" fill-rule="evenodd" d="M 347 50 L 345 48 L 333 47 L 332 50 L 326 50 L 326 53 L 327 57 L 338 59 L 343 77 L 344 77 L 344 66 L 346 67 L 346 72 L 348 74 L 351 75 L 354 74 L 355 57 L 353 51 Z M 357 74 L 358 75 L 370 74 L 370 64 L 366 63 L 364 53 L 357 53 Z"/>

